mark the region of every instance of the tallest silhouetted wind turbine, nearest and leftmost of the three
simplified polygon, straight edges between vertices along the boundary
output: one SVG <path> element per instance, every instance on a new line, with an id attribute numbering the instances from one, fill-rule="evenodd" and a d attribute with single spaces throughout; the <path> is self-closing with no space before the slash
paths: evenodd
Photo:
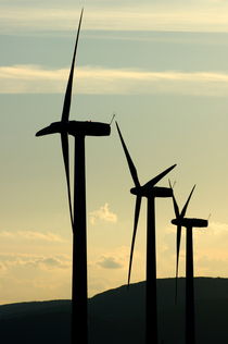
<path id="1" fill-rule="evenodd" d="M 48 127 L 45 127 L 36 134 L 36 136 L 55 133 L 61 134 L 62 153 L 67 184 L 69 216 L 73 230 L 72 343 L 74 344 L 88 343 L 85 137 L 109 136 L 111 133 L 111 126 L 106 123 L 90 121 L 69 121 L 74 66 L 81 19 L 83 10 L 78 24 L 61 121 L 50 124 Z M 72 206 L 69 183 L 68 135 L 72 135 L 75 138 L 74 209 Z"/>

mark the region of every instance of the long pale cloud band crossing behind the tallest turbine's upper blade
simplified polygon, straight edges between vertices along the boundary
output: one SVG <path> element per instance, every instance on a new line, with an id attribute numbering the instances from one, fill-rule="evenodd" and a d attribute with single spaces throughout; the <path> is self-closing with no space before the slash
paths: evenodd
<path id="1" fill-rule="evenodd" d="M 68 69 L 48 70 L 37 65 L 0 67 L 1 94 L 65 93 Z M 139 69 L 83 66 L 77 70 L 76 94 L 137 95 L 179 94 L 228 96 L 228 74 L 223 72 L 153 72 Z"/>

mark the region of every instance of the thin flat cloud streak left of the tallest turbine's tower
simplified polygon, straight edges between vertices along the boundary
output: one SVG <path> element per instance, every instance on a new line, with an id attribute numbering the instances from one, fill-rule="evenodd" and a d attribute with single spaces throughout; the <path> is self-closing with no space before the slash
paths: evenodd
<path id="1" fill-rule="evenodd" d="M 45 242 L 56 242 L 56 243 L 64 243 L 65 239 L 63 239 L 60 235 L 47 232 L 35 232 L 35 231 L 17 231 L 17 232 L 8 232 L 8 231 L 1 231 L 0 237 L 7 238 L 7 239 L 26 239 L 26 241 L 45 241 Z"/>

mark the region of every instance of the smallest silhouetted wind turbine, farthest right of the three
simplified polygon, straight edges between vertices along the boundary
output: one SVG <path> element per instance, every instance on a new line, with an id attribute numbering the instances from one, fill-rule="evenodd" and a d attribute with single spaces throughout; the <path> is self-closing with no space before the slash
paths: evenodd
<path id="1" fill-rule="evenodd" d="M 169 182 L 170 186 L 170 182 Z M 172 186 L 170 186 L 172 187 Z M 193 283 L 193 228 L 206 228 L 208 225 L 207 220 L 185 218 L 189 201 L 195 185 L 181 210 L 177 205 L 176 198 L 173 193 L 174 211 L 176 219 L 172 220 L 172 223 L 177 226 L 177 261 L 176 261 L 176 296 L 177 296 L 177 278 L 178 278 L 178 262 L 179 262 L 179 249 L 181 238 L 181 228 L 186 228 L 186 344 L 195 343 L 195 329 L 194 329 L 194 283 Z"/>

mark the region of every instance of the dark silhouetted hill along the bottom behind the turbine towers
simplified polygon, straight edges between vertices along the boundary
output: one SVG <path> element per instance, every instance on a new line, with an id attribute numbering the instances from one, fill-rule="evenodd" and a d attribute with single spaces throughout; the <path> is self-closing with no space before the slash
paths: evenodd
<path id="1" fill-rule="evenodd" d="M 197 343 L 228 343 L 228 279 L 197 278 Z M 144 282 L 110 290 L 89 299 L 90 344 L 143 344 Z M 182 344 L 185 279 L 157 280 L 160 340 Z M 68 344 L 71 302 L 51 300 L 0 306 L 3 344 Z M 163 341 L 163 342 L 162 342 Z"/>

